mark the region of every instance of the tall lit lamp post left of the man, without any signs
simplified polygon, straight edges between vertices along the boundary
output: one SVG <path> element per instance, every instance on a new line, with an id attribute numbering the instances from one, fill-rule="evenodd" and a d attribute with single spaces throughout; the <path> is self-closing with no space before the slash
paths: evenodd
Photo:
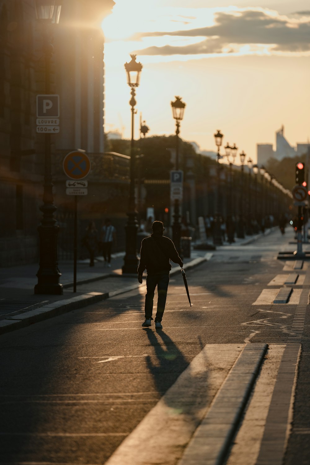
<path id="1" fill-rule="evenodd" d="M 131 61 L 125 63 L 125 70 L 127 73 L 127 83 L 131 88 L 131 100 L 129 105 L 132 107 L 132 139 L 130 145 L 130 186 L 129 186 L 129 205 L 127 213 L 128 221 L 125 226 L 126 232 L 126 245 L 125 245 L 125 257 L 124 265 L 122 267 L 123 273 L 137 273 L 138 269 L 138 257 L 137 257 L 137 231 L 138 231 L 138 221 L 137 221 L 137 211 L 136 211 L 136 201 L 135 201 L 135 153 L 134 153 L 134 115 L 137 113 L 134 109 L 136 105 L 135 100 L 135 87 L 139 86 L 140 74 L 142 70 L 141 63 L 137 63 L 136 55 L 130 55 Z"/>

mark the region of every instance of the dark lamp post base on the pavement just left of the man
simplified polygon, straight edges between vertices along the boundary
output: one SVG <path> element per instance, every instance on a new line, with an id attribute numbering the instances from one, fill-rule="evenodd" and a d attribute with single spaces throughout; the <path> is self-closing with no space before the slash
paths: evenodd
<path id="1" fill-rule="evenodd" d="M 138 221 L 137 213 L 128 213 L 128 223 L 125 226 L 126 232 L 126 254 L 124 257 L 124 265 L 122 266 L 123 274 L 137 274 L 139 266 L 139 257 L 137 256 L 137 232 Z"/>

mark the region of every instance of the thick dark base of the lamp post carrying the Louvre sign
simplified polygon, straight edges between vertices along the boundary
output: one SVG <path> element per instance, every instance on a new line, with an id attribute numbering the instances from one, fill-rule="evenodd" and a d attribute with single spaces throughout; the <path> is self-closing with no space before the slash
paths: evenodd
<path id="1" fill-rule="evenodd" d="M 63 294 L 59 283 L 61 273 L 57 261 L 58 226 L 39 226 L 40 237 L 40 268 L 37 272 L 38 283 L 34 286 L 35 294 Z"/>

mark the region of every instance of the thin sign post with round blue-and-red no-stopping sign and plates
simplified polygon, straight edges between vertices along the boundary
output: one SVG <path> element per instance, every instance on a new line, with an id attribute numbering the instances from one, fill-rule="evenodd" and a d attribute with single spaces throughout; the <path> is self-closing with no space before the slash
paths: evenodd
<path id="1" fill-rule="evenodd" d="M 88 181 L 82 181 L 91 169 L 91 162 L 84 150 L 74 150 L 63 162 L 65 174 L 73 179 L 66 180 L 66 194 L 74 195 L 74 240 L 73 240 L 73 292 L 76 292 L 78 260 L 78 195 L 87 195 Z"/>

